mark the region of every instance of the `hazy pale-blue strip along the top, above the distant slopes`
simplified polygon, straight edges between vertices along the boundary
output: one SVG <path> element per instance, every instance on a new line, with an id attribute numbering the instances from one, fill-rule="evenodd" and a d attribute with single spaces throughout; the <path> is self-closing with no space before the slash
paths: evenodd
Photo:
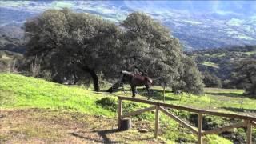
<path id="1" fill-rule="evenodd" d="M 78 2 L 78 4 L 74 4 Z M 182 10 L 189 13 L 216 13 L 216 14 L 238 14 L 250 16 L 256 13 L 256 1 L 1 1 L 0 6 L 11 8 L 33 8 L 38 7 L 38 10 L 45 10 L 50 7 L 70 7 L 84 8 L 86 3 L 93 3 L 98 6 L 113 6 L 116 9 L 120 6 L 129 7 L 131 10 L 142 10 L 146 12 L 166 12 L 169 10 Z M 110 7 L 108 7 L 110 8 Z"/>

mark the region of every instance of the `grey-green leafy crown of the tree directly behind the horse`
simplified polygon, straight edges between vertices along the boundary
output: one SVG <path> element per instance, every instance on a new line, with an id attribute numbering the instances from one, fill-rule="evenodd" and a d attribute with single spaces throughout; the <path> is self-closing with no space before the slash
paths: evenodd
<path id="1" fill-rule="evenodd" d="M 123 34 L 122 54 L 126 70 L 139 67 L 154 78 L 154 84 L 175 87 L 188 93 L 202 94 L 202 78 L 196 65 L 188 70 L 178 39 L 159 22 L 143 13 L 129 14 L 122 22 L 127 30 Z M 190 78 L 190 81 L 187 80 Z"/>

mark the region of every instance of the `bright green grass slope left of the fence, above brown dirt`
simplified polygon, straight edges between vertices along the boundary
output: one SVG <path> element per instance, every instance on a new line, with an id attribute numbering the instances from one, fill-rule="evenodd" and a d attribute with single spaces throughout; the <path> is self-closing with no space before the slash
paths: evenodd
<path id="1" fill-rule="evenodd" d="M 114 116 L 113 112 L 95 105 L 96 100 L 103 98 L 101 94 L 78 86 L 63 86 L 17 74 L 0 74 L 0 81 L 0 108 L 50 108 Z"/>

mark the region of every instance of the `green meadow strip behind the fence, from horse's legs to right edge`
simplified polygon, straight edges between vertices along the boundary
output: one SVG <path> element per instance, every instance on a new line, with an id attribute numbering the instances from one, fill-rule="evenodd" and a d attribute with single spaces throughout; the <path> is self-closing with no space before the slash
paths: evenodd
<path id="1" fill-rule="evenodd" d="M 138 89 L 138 98 L 146 98 L 144 89 Z M 256 99 L 243 95 L 244 90 L 206 88 L 205 95 L 174 94 L 166 90 L 166 103 L 178 106 L 190 106 L 203 110 L 218 110 L 226 113 L 246 113 L 250 111 L 256 115 Z M 129 95 L 129 94 L 127 94 Z M 155 100 L 163 101 L 162 87 L 154 86 Z"/>

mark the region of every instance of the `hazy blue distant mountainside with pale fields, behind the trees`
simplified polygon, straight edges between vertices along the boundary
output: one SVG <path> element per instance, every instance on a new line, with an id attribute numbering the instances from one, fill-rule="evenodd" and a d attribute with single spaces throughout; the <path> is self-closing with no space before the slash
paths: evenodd
<path id="1" fill-rule="evenodd" d="M 143 11 L 169 27 L 185 50 L 256 45 L 255 6 L 254 1 L 1 1 L 0 34 L 22 38 L 26 19 L 68 7 L 113 22 Z"/>

